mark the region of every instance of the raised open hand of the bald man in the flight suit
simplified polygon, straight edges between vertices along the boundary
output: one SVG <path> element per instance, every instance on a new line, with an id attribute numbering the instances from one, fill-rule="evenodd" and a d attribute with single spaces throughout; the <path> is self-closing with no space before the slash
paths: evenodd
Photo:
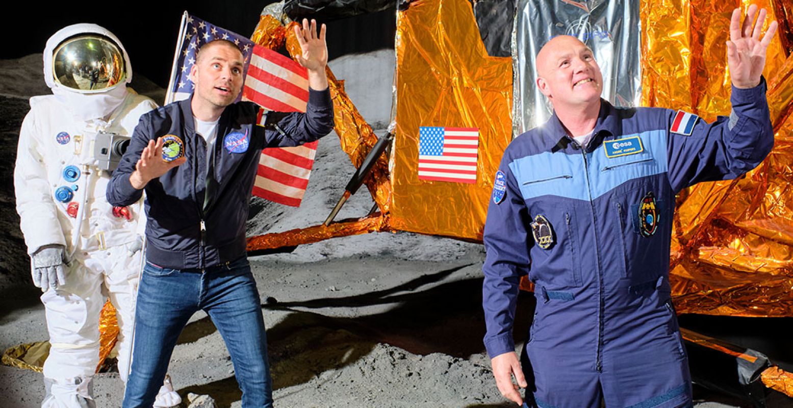
<path id="1" fill-rule="evenodd" d="M 753 88 L 760 83 L 760 75 L 765 67 L 765 52 L 776 33 L 776 21 L 768 25 L 762 40 L 760 32 L 765 22 L 766 11 L 760 10 L 754 22 L 757 5 L 749 6 L 746 18 L 741 25 L 741 9 L 733 10 L 730 19 L 730 40 L 727 41 L 727 64 L 730 77 L 737 88 Z M 753 24 L 754 23 L 754 24 Z"/>

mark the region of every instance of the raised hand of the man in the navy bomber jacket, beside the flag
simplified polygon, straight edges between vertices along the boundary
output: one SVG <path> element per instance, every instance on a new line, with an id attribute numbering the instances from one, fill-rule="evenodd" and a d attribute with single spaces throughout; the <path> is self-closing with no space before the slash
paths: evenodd
<path id="1" fill-rule="evenodd" d="M 308 24 L 308 19 L 303 19 L 303 26 L 295 25 L 295 37 L 301 47 L 301 54 L 297 62 L 308 70 L 308 86 L 314 90 L 324 90 L 328 87 L 328 78 L 325 76 L 325 66 L 328 65 L 328 46 L 325 44 L 325 25 L 316 33 L 316 20 Z"/>

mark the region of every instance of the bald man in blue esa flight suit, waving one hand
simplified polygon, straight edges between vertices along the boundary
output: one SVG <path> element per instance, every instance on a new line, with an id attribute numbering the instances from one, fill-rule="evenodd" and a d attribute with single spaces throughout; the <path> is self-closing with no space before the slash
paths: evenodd
<path id="1" fill-rule="evenodd" d="M 668 281 L 675 194 L 737 178 L 771 151 L 761 73 L 776 21 L 760 38 L 756 14 L 732 15 L 733 109 L 712 124 L 603 101 L 592 50 L 574 37 L 540 50 L 554 116 L 504 152 L 485 223 L 485 347 L 504 397 L 521 404 L 527 387 L 525 406 L 539 408 L 691 406 Z M 512 323 L 526 274 L 537 307 L 521 369 Z"/>

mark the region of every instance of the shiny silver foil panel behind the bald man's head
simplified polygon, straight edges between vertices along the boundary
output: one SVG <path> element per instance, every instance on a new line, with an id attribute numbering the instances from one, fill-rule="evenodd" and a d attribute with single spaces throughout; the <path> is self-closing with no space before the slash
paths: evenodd
<path id="1" fill-rule="evenodd" d="M 638 106 L 642 94 L 639 8 L 634 0 L 519 0 L 513 30 L 514 136 L 542 125 L 552 108 L 535 82 L 534 60 L 548 40 L 578 37 L 592 48 L 603 72 L 603 98 Z"/>

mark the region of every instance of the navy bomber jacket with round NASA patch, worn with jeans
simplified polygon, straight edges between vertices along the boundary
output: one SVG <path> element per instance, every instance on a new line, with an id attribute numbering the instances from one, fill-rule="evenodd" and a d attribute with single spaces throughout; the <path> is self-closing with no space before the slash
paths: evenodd
<path id="1" fill-rule="evenodd" d="M 243 256 L 245 222 L 262 148 L 297 146 L 333 129 L 329 90 L 309 89 L 305 114 L 271 112 L 266 126 L 256 124 L 259 106 L 253 102 L 227 106 L 220 115 L 214 144 L 216 188 L 204 208 L 206 141 L 194 129 L 191 100 L 173 102 L 140 117 L 107 188 L 107 200 L 113 206 L 136 202 L 143 191 L 132 187 L 129 175 L 148 141 L 169 134 L 182 139 L 186 163 L 144 187 L 146 259 L 164 268 L 207 268 Z M 234 140 L 227 143 L 230 135 Z M 247 148 L 242 140 L 247 140 Z"/>

